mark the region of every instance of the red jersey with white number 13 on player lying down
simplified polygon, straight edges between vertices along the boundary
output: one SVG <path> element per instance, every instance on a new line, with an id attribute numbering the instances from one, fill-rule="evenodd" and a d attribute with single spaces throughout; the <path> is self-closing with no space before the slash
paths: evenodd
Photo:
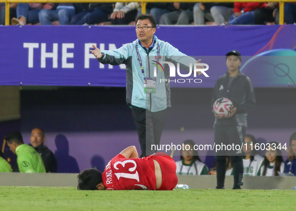
<path id="1" fill-rule="evenodd" d="M 102 173 L 107 190 L 156 190 L 154 162 L 145 158 L 125 158 L 117 155 Z"/>

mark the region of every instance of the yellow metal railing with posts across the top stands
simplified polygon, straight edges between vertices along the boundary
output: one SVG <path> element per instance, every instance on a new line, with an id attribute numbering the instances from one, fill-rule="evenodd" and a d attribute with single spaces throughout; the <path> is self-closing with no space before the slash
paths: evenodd
<path id="1" fill-rule="evenodd" d="M 6 3 L 9 8 L 10 3 L 29 3 L 33 0 L 0 0 L 0 3 Z M 142 2 L 142 13 L 146 13 L 146 2 L 175 2 L 176 0 L 38 0 L 40 3 L 92 3 L 92 2 Z M 279 2 L 279 24 L 283 24 L 283 4 L 284 2 L 293 2 L 295 0 L 177 0 L 178 2 Z M 10 10 L 6 9 L 5 24 L 9 25 Z"/>

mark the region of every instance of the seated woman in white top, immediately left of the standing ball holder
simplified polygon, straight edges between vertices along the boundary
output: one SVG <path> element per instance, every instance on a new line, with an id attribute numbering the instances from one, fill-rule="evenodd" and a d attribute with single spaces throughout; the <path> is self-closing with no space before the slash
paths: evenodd
<path id="1" fill-rule="evenodd" d="M 194 150 L 194 141 L 186 140 L 183 144 L 184 150 L 181 151 L 181 160 L 176 162 L 176 174 L 207 175 L 209 170 L 207 166 L 200 161 L 197 150 Z"/>

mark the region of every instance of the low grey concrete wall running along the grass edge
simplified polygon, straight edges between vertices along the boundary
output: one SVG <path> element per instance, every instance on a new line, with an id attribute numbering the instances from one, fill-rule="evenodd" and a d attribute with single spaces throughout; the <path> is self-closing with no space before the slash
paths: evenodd
<path id="1" fill-rule="evenodd" d="M 214 189 L 215 176 L 178 176 L 178 184 L 190 189 Z M 244 177 L 243 189 L 291 190 L 296 186 L 296 177 Z M 0 173 L 0 186 L 67 187 L 77 186 L 77 174 L 25 174 Z M 231 189 L 233 177 L 226 176 L 225 189 Z"/>

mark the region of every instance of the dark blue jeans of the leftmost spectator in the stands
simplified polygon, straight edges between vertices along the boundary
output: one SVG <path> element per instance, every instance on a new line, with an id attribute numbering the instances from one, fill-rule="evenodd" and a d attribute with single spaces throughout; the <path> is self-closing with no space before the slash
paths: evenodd
<path id="1" fill-rule="evenodd" d="M 29 3 L 19 3 L 17 7 L 17 18 L 25 17 L 27 23 L 39 23 L 39 11 L 41 9 L 32 8 Z"/>

